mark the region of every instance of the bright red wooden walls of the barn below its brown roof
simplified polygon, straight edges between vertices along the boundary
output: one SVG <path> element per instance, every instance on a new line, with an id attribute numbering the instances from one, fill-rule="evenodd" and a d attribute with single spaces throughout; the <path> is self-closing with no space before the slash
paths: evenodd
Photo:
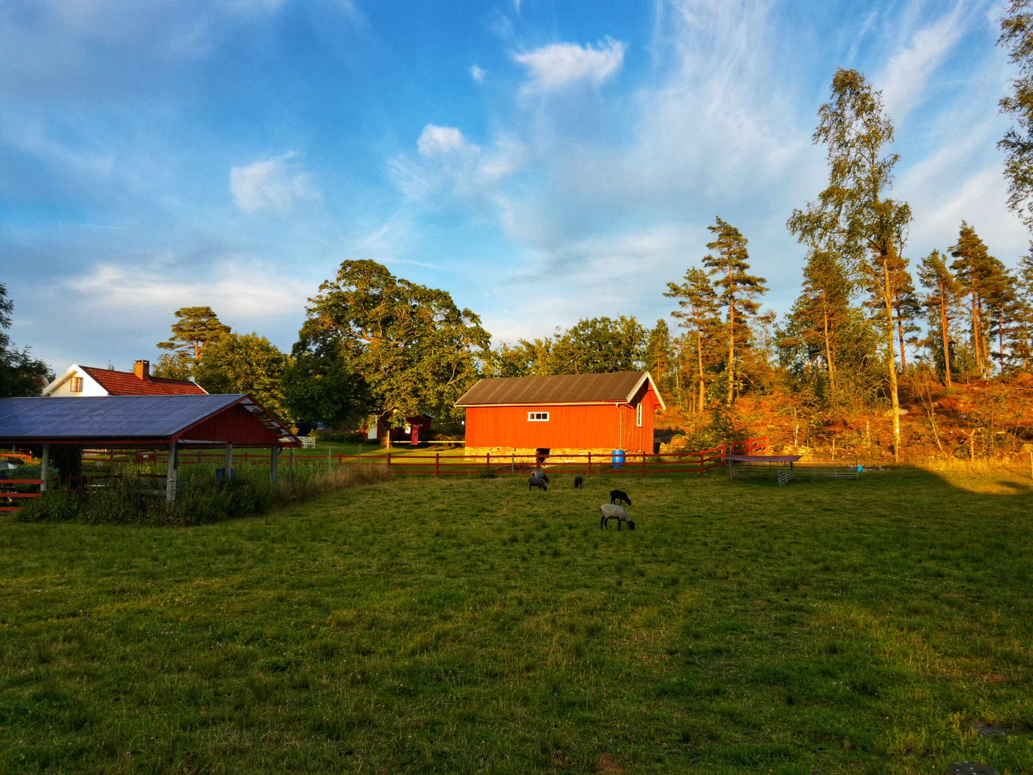
<path id="1" fill-rule="evenodd" d="M 653 451 L 653 412 L 659 401 L 647 382 L 634 404 L 540 404 L 471 406 L 466 410 L 466 445 L 552 450 Z M 643 403 L 643 426 L 635 404 Z M 528 412 L 547 411 L 549 422 L 531 422 Z"/>

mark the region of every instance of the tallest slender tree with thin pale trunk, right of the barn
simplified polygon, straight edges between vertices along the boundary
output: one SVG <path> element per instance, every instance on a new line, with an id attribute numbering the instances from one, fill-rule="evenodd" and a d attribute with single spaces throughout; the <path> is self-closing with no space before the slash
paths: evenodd
<path id="1" fill-rule="evenodd" d="M 902 279 L 900 262 L 911 221 L 906 203 L 890 198 L 897 154 L 886 153 L 894 125 L 882 94 L 856 70 L 839 69 L 832 98 L 818 110 L 815 144 L 828 154 L 828 186 L 787 223 L 804 244 L 824 246 L 866 280 L 885 309 L 886 374 L 894 419 L 894 456 L 900 459 L 900 397 L 894 346 L 894 301 Z"/>

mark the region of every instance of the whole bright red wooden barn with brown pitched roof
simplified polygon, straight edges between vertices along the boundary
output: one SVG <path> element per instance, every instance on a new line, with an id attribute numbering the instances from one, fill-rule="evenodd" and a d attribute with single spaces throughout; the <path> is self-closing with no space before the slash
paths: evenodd
<path id="1" fill-rule="evenodd" d="M 653 413 L 663 399 L 648 371 L 481 379 L 466 407 L 466 448 L 547 455 L 653 452 Z"/>

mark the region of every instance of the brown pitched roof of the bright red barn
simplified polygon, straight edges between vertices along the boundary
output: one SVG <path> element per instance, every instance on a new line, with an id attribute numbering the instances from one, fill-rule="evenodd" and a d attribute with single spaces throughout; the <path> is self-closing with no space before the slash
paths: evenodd
<path id="1" fill-rule="evenodd" d="M 456 402 L 456 406 L 628 403 L 647 380 L 660 406 L 666 408 L 648 371 L 481 379 Z"/>

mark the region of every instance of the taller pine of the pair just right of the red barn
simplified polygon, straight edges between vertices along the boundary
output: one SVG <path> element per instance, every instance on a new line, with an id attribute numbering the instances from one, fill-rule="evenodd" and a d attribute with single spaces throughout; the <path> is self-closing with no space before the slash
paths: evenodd
<path id="1" fill-rule="evenodd" d="M 760 308 L 760 304 L 753 301 L 752 297 L 763 293 L 768 286 L 764 285 L 764 278 L 747 274 L 750 254 L 746 250 L 747 240 L 738 228 L 720 218 L 707 228 L 716 235 L 714 242 L 707 243 L 708 250 L 713 250 L 716 255 L 708 253 L 703 256 L 702 264 L 710 269 L 712 276 L 717 276 L 714 284 L 721 289 L 718 295 L 719 306 L 728 309 L 725 328 L 728 361 L 725 373 L 728 378 L 728 406 L 731 406 L 735 394 L 735 342 L 738 339 L 740 346 L 748 344 L 750 328 L 746 320 L 757 314 Z"/>

